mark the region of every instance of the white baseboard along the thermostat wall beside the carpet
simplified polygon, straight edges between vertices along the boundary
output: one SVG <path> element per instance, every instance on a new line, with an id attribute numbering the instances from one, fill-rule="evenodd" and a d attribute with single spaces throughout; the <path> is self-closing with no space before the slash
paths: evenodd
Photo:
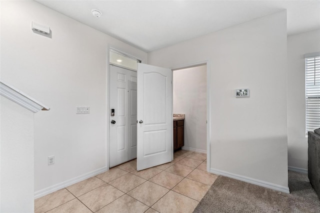
<path id="1" fill-rule="evenodd" d="M 215 168 L 210 168 L 210 172 L 214 173 L 214 174 L 220 174 L 220 175 L 223 175 L 223 176 L 231 177 L 233 179 L 238 179 L 238 180 L 241 180 L 241 181 L 244 181 L 244 182 L 252 183 L 252 184 L 255 184 L 255 185 L 263 186 L 263 187 L 266 187 L 266 188 L 271 188 L 273 190 L 282 191 L 282 192 L 285 192 L 285 193 L 290 193 L 289 187 L 285 187 L 285 186 L 282 186 L 282 185 L 274 184 L 274 183 L 271 183 L 271 182 L 266 182 L 266 181 L 263 181 L 263 180 L 254 179 L 254 178 L 251 178 L 251 177 L 246 177 L 246 176 L 230 173 L 230 172 L 219 170 L 219 169 L 215 169 Z"/>

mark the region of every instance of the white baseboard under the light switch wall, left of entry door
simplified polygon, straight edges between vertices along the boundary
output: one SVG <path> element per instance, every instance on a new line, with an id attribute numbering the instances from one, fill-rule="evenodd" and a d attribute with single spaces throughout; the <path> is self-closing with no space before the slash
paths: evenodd
<path id="1" fill-rule="evenodd" d="M 108 169 L 109 169 L 109 168 L 108 168 L 107 166 L 104 166 L 104 167 L 102 167 L 102 168 L 98 168 L 98 169 L 96 169 L 96 170 L 93 170 L 93 171 L 90 171 L 90 172 L 88 172 L 88 173 L 79 175 L 79 176 L 74 177 L 74 178 L 72 178 L 72 179 L 69 179 L 69 180 L 66 180 L 66 181 L 57 183 L 57 184 L 55 184 L 55 185 L 52 185 L 52 186 L 43 188 L 43 189 L 38 190 L 38 191 L 35 191 L 35 192 L 34 192 L 34 199 L 39 198 L 39 197 L 41 197 L 41 196 L 44 196 L 44 195 L 46 195 L 46 194 L 52 193 L 52 192 L 54 192 L 54 191 L 57 191 L 57 190 L 59 190 L 59 189 L 61 189 L 61 188 L 65 188 L 65 187 L 67 187 L 67 186 L 69 186 L 69 185 L 72 185 L 72 184 L 74 184 L 74 183 L 80 182 L 80 181 L 82 181 L 82 180 L 84 180 L 84 179 L 87 179 L 87 178 L 89 178 L 89 177 L 95 176 L 95 175 L 97 175 L 97 174 L 99 174 L 99 173 L 102 173 L 102 172 L 108 170 Z"/>

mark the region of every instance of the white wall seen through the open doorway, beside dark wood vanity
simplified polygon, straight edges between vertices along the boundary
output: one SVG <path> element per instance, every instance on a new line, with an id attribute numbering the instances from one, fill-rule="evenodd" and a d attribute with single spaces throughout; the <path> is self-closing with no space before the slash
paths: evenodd
<path id="1" fill-rule="evenodd" d="M 173 71 L 173 114 L 185 114 L 183 148 L 206 152 L 206 65 Z"/>

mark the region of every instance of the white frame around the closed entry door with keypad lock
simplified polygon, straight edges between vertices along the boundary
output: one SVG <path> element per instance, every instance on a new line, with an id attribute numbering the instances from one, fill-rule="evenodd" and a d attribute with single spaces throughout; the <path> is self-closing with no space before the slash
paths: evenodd
<path id="1" fill-rule="evenodd" d="M 106 138 L 106 144 L 105 144 L 105 167 L 106 169 L 105 170 L 109 170 L 109 157 L 110 157 L 110 116 L 109 116 L 109 113 L 110 113 L 110 49 L 114 50 L 114 51 L 117 51 L 117 52 L 120 52 L 122 54 L 125 54 L 133 59 L 137 59 L 137 60 L 140 60 L 141 63 L 144 62 L 141 58 L 138 58 L 136 56 L 133 56 L 129 53 L 126 53 L 125 51 L 122 51 L 122 50 L 119 50 L 119 48 L 115 48 L 113 47 L 113 45 L 107 45 L 106 47 L 106 91 L 105 91 L 105 94 L 106 94 L 106 135 L 105 135 L 105 138 Z"/>

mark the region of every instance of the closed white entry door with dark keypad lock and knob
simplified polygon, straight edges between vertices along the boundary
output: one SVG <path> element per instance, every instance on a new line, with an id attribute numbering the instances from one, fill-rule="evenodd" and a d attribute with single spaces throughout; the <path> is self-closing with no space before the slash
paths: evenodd
<path id="1" fill-rule="evenodd" d="M 136 158 L 136 82 L 135 71 L 110 65 L 109 167 Z"/>

